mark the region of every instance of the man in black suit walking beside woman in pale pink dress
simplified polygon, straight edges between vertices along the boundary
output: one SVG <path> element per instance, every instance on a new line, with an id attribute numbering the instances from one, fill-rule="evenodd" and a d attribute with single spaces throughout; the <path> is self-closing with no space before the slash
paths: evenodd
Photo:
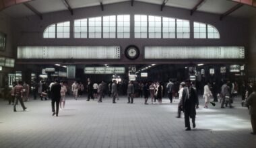
<path id="1" fill-rule="evenodd" d="M 59 114 L 59 102 L 61 100 L 61 84 L 59 84 L 59 80 L 55 79 L 55 83 L 51 87 L 51 94 L 52 94 L 52 111 L 53 116 Z M 55 112 L 55 102 L 56 102 L 56 112 Z"/>

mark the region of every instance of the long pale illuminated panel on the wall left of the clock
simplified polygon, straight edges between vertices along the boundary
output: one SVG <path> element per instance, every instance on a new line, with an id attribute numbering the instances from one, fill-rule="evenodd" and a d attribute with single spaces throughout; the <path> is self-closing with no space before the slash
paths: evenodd
<path id="1" fill-rule="evenodd" d="M 18 59 L 120 59 L 120 46 L 18 46 Z"/>

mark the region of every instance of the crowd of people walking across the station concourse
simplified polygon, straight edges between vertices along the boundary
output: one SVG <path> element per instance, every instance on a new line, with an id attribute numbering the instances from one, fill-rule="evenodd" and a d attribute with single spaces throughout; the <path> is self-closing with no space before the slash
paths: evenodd
<path id="1" fill-rule="evenodd" d="M 125 84 L 125 85 L 124 85 Z M 178 85 L 177 85 L 178 84 Z M 126 91 L 120 91 L 120 88 L 126 89 Z M 73 98 L 77 100 L 79 97 L 83 96 L 84 91 L 86 91 L 87 101 L 98 100 L 98 103 L 102 102 L 102 98 L 106 95 L 113 98 L 113 104 L 117 103 L 119 100 L 119 94 L 122 92 L 127 95 L 127 103 L 133 104 L 134 98 L 144 98 L 143 103 L 148 105 L 148 98 L 151 98 L 151 104 L 162 104 L 162 98 L 167 96 L 170 100 L 170 103 L 173 102 L 175 97 L 178 98 L 178 108 L 177 108 L 177 118 L 181 118 L 181 112 L 184 112 L 185 115 L 185 127 L 186 131 L 191 130 L 189 123 L 189 118 L 192 119 L 193 128 L 195 128 L 195 115 L 196 108 L 199 108 L 198 100 L 198 88 L 195 83 L 191 83 L 190 80 L 186 80 L 181 83 L 177 83 L 169 79 L 168 83 L 161 83 L 158 81 L 155 82 L 138 82 L 138 81 L 129 81 L 126 83 L 118 83 L 116 80 L 110 83 L 101 81 L 99 83 L 92 82 L 90 78 L 87 79 L 86 86 L 81 81 L 73 81 L 72 85 L 69 87 L 65 81 L 59 81 L 55 79 L 49 83 L 46 81 L 32 81 L 31 91 L 36 100 L 37 96 L 40 96 L 40 100 L 49 100 L 52 101 L 52 111 L 53 116 L 58 116 L 59 108 L 65 108 L 65 96 L 69 90 Z M 240 89 L 240 90 L 239 90 Z M 251 110 L 251 122 L 253 125 L 253 134 L 255 134 L 255 124 L 256 117 L 255 112 L 255 85 L 252 81 L 249 83 L 243 82 L 241 87 L 238 87 L 236 82 L 232 83 L 228 79 L 224 80 L 221 86 L 216 85 L 215 82 L 205 83 L 203 87 L 203 99 L 205 100 L 204 108 L 208 108 L 209 103 L 215 106 L 215 102 L 220 100 L 220 108 L 233 108 L 232 103 L 234 97 L 237 96 L 238 92 L 241 94 L 241 105 L 247 106 Z M 24 102 L 29 101 L 30 94 L 30 85 L 26 82 L 18 81 L 18 83 L 13 83 L 13 88 L 10 91 L 9 104 L 13 102 L 13 111 L 16 112 L 16 105 L 20 102 L 23 110 L 27 110 Z M 123 95 L 122 94 L 122 95 Z M 55 110 L 56 106 L 56 110 Z M 224 107 L 225 106 L 225 107 Z"/>

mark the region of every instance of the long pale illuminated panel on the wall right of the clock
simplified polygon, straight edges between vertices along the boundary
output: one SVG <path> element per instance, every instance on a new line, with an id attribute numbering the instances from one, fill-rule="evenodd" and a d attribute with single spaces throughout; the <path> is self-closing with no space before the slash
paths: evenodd
<path id="1" fill-rule="evenodd" d="M 146 46 L 145 59 L 245 59 L 245 47 Z"/>

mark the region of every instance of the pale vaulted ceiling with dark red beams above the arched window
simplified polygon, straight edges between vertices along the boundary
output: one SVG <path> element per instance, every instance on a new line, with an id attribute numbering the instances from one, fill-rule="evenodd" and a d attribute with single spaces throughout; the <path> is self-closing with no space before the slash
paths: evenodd
<path id="1" fill-rule="evenodd" d="M 256 15 L 256 0 L 0 0 L 0 12 L 13 18 L 38 15 L 44 13 L 69 10 L 81 7 L 99 6 L 110 3 L 131 1 L 136 5 L 137 1 L 154 3 L 159 7 L 179 7 L 194 11 L 216 13 L 222 17 L 250 18 Z M 250 3 L 248 3 L 250 1 Z M 251 6 L 250 6 L 251 5 Z"/>

